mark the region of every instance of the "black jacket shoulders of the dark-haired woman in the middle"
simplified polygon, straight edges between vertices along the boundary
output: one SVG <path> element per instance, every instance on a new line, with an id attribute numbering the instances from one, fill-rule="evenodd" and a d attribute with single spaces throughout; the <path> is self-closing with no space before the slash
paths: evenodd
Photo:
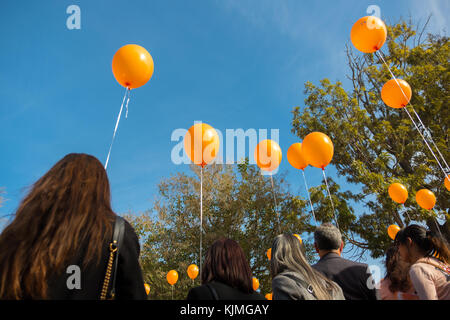
<path id="1" fill-rule="evenodd" d="M 221 282 L 212 281 L 209 285 L 215 289 L 219 300 L 265 300 L 265 298 L 257 292 L 244 293 L 239 289 L 232 288 Z M 187 300 L 215 299 L 211 290 L 206 285 L 202 285 L 189 290 Z"/>

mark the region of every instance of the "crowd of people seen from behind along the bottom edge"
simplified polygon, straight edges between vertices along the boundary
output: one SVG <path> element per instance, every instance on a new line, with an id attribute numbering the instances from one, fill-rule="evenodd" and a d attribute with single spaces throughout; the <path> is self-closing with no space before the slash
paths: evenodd
<path id="1" fill-rule="evenodd" d="M 65 156 L 31 187 L 0 234 L 0 299 L 99 299 L 105 270 L 113 265 L 108 257 L 115 252 L 116 219 L 100 161 Z M 120 239 L 115 281 L 105 290 L 115 299 L 146 299 L 139 240 L 126 221 Z M 273 240 L 273 300 L 450 300 L 448 244 L 422 226 L 397 233 L 379 286 L 368 265 L 341 256 L 344 242 L 333 224 L 316 228 L 314 246 L 320 259 L 310 265 L 294 235 Z M 78 287 L 68 285 L 68 266 L 81 268 Z M 188 300 L 265 299 L 254 291 L 249 262 L 232 239 L 212 244 L 200 276 L 202 285 L 189 291 Z"/>

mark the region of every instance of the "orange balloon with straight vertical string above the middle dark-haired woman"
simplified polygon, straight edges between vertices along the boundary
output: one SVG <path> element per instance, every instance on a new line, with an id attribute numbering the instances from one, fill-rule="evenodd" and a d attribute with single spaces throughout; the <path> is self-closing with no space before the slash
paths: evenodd
<path id="1" fill-rule="evenodd" d="M 203 167 L 212 162 L 219 153 L 220 139 L 217 131 L 206 123 L 196 123 L 184 136 L 184 151 L 191 161 L 200 166 L 200 273 L 202 272 L 203 237 Z"/>

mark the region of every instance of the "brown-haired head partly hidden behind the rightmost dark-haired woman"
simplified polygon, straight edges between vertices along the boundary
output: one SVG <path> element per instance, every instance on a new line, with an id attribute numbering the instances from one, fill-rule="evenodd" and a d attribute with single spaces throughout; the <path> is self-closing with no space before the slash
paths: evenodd
<path id="1" fill-rule="evenodd" d="M 409 279 L 409 264 L 400 259 L 397 246 L 392 246 L 386 251 L 386 278 L 389 279 L 391 292 L 408 292 L 411 288 Z"/>

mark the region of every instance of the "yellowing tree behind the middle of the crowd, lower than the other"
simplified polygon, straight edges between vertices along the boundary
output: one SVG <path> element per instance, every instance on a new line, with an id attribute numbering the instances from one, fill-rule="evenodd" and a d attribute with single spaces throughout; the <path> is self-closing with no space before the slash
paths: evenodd
<path id="1" fill-rule="evenodd" d="M 166 273 L 174 269 L 179 280 L 174 298 L 185 299 L 191 287 L 200 284 L 187 277 L 191 263 L 199 265 L 200 169 L 193 175 L 178 173 L 159 184 L 154 212 L 127 215 L 141 241 L 144 280 L 151 285 L 150 298 L 170 299 Z M 278 220 L 270 178 L 249 165 L 209 165 L 203 176 L 203 258 L 219 237 L 237 241 L 243 248 L 262 293 L 271 292 L 266 251 L 278 235 Z M 281 232 L 301 234 L 309 228 L 306 201 L 293 196 L 283 175 L 274 176 Z M 305 254 L 313 258 L 313 248 L 304 241 Z"/>

